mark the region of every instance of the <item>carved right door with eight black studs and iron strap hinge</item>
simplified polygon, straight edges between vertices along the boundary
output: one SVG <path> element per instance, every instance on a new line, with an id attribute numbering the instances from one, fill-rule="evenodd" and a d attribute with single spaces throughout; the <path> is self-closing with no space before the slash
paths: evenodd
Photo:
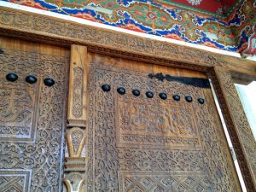
<path id="1" fill-rule="evenodd" d="M 148 77 L 163 73 L 206 83 L 203 73 L 95 54 L 89 58 L 82 191 L 241 191 L 210 87 Z"/>

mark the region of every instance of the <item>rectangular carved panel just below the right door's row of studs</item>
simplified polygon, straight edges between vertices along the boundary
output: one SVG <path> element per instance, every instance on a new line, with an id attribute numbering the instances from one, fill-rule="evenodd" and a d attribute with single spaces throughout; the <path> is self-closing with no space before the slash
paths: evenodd
<path id="1" fill-rule="evenodd" d="M 172 98 L 166 102 L 147 101 L 115 93 L 116 136 L 119 147 L 131 148 L 201 148 L 191 106 L 177 104 Z"/>

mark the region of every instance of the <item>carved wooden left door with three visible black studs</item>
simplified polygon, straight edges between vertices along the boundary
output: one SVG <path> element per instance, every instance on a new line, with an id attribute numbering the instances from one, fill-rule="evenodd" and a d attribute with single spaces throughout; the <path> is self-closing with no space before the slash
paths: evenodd
<path id="1" fill-rule="evenodd" d="M 69 50 L 10 38 L 0 48 L 0 191 L 62 191 Z"/>

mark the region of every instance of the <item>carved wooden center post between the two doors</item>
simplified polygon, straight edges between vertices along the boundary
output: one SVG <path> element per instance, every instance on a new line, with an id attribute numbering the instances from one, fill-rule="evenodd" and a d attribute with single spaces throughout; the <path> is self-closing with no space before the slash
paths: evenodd
<path id="1" fill-rule="evenodd" d="M 70 76 L 67 110 L 64 183 L 68 192 L 80 192 L 84 183 L 86 157 L 83 153 L 86 143 L 87 118 L 87 48 L 71 46 Z"/>

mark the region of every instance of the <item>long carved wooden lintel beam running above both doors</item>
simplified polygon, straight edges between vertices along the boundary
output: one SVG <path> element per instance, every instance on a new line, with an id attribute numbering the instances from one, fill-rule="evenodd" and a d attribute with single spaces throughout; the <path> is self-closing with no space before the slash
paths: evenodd
<path id="1" fill-rule="evenodd" d="M 0 7 L 0 32 L 47 44 L 85 45 L 91 52 L 136 61 L 198 71 L 223 66 L 256 75 L 256 65 L 251 61 L 3 7 Z"/>

